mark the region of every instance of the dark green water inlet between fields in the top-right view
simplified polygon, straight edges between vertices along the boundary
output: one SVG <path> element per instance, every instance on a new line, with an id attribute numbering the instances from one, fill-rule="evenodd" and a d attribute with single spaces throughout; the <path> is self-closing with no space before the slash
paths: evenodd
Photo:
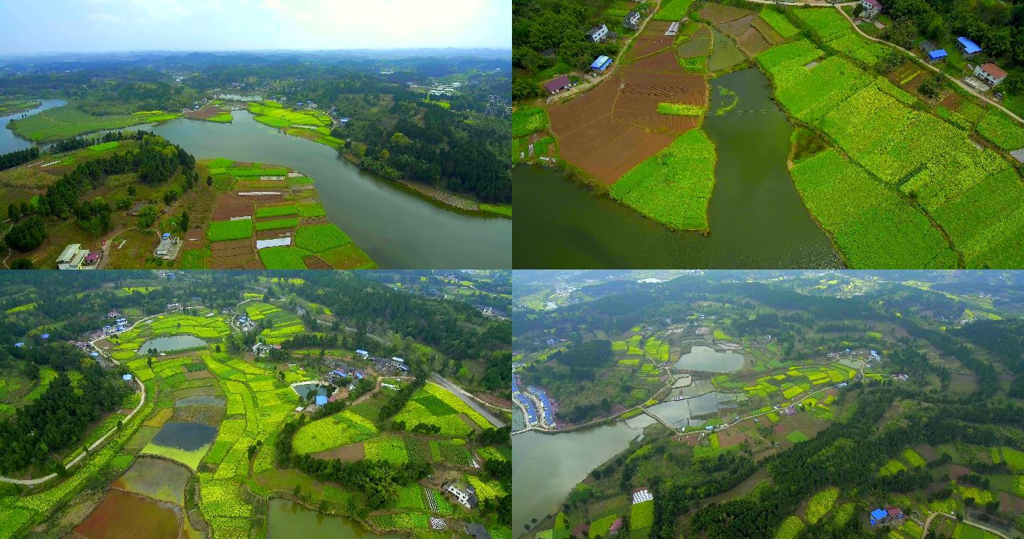
<path id="1" fill-rule="evenodd" d="M 674 233 L 560 172 L 513 169 L 516 267 L 838 267 L 831 241 L 811 219 L 786 169 L 793 126 L 756 68 L 711 81 L 702 128 L 718 164 L 711 234 Z M 732 111 L 715 111 L 732 102 Z"/>

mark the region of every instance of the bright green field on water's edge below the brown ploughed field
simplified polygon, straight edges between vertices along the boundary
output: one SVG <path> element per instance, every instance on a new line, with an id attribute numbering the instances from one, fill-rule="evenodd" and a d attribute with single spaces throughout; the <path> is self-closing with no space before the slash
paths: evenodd
<path id="1" fill-rule="evenodd" d="M 705 231 L 715 160 L 715 144 L 693 129 L 623 175 L 610 194 L 671 229 Z"/>

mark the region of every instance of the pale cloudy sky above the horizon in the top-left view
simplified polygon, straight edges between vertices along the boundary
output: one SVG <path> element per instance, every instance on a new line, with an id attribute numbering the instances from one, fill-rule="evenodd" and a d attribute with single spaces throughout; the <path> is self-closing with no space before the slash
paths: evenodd
<path id="1" fill-rule="evenodd" d="M 0 53 L 512 46 L 512 0 L 0 0 Z"/>

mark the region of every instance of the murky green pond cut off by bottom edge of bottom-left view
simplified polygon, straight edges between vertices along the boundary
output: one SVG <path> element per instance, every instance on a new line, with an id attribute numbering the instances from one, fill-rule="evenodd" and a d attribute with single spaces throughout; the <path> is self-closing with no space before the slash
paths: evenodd
<path id="1" fill-rule="evenodd" d="M 396 534 L 376 535 L 357 521 L 309 509 L 298 502 L 274 498 L 267 506 L 267 537 L 388 537 L 399 539 Z"/>

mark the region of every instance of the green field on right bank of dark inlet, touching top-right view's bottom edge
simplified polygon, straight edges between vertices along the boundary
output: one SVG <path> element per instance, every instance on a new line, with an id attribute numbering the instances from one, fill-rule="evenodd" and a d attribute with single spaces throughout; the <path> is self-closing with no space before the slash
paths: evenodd
<path id="1" fill-rule="evenodd" d="M 956 266 L 928 217 L 835 150 L 797 163 L 793 179 L 850 267 Z"/>

